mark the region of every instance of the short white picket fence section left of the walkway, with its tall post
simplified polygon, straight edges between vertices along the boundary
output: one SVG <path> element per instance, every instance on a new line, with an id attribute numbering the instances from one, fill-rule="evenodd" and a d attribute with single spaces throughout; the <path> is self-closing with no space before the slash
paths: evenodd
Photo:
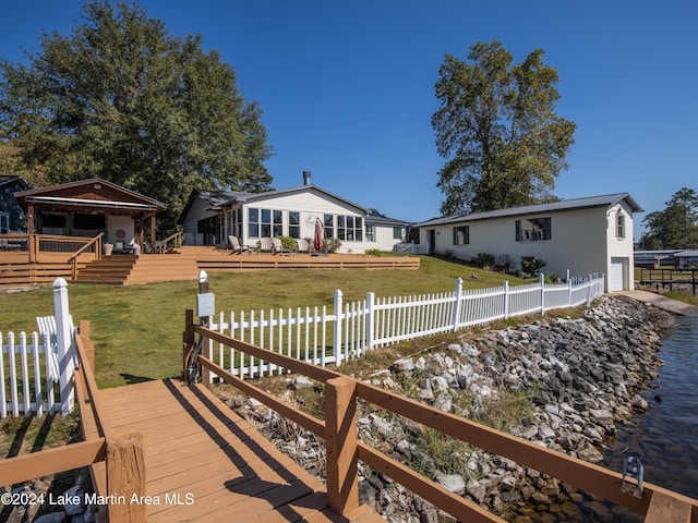
<path id="1" fill-rule="evenodd" d="M 75 329 L 62 278 L 53 282 L 53 311 L 36 318 L 39 333 L 0 332 L 0 418 L 72 410 Z"/>

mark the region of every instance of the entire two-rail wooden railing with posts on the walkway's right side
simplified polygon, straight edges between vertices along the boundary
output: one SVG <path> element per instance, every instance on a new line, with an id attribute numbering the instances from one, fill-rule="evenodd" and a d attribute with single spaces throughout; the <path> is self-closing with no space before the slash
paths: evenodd
<path id="1" fill-rule="evenodd" d="M 200 354 L 196 358 L 202 367 L 202 381 L 204 384 L 210 381 L 209 377 L 213 373 L 222 381 L 255 398 L 280 415 L 325 439 L 328 502 L 340 514 L 346 514 L 358 507 L 357 460 L 360 459 L 375 471 L 400 483 L 407 489 L 448 512 L 458 521 L 503 521 L 478 504 L 450 492 L 408 466 L 358 441 L 356 401 L 360 398 L 453 438 L 472 443 L 488 452 L 505 457 L 524 466 L 549 474 L 590 494 L 626 507 L 634 512 L 647 514 L 646 521 L 670 521 L 666 519 L 665 512 L 662 512 L 666 507 L 666 501 L 670 500 L 679 508 L 679 511 L 688 514 L 688 519 L 679 521 L 698 523 L 698 500 L 696 499 L 648 483 L 643 484 L 642 497 L 636 498 L 622 489 L 624 479 L 619 473 L 607 471 L 586 461 L 402 398 L 337 372 L 316 367 L 236 340 L 205 326 L 195 325 L 193 319 L 193 311 L 186 311 L 183 333 L 183 368 L 185 377 L 189 356 L 196 345 L 195 336 L 198 335 L 204 338 L 202 346 L 205 346 L 206 339 L 213 340 L 228 348 L 242 351 L 250 356 L 265 360 L 292 373 L 301 374 L 325 384 L 325 421 L 322 422 L 291 408 L 251 382 L 233 376 L 210 362 L 205 355 Z M 625 481 L 637 486 L 633 478 L 626 478 Z M 651 510 L 649 510 L 650 507 L 652 507 Z"/>

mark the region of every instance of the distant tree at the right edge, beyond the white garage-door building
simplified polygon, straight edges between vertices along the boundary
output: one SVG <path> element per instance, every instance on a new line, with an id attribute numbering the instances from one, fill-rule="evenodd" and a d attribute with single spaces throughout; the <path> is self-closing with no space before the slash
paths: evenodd
<path id="1" fill-rule="evenodd" d="M 640 243 L 657 248 L 698 247 L 698 194 L 683 187 L 666 202 L 664 210 L 650 212 L 642 223 L 647 232 Z"/>

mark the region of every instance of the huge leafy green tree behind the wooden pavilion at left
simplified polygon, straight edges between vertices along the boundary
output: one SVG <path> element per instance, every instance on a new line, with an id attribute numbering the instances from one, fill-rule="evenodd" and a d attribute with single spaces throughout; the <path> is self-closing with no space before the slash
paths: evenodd
<path id="1" fill-rule="evenodd" d="M 194 187 L 260 192 L 270 177 L 261 109 L 201 36 L 137 7 L 85 4 L 28 64 L 0 61 L 0 136 L 49 183 L 99 177 L 160 199 L 168 226 Z"/>

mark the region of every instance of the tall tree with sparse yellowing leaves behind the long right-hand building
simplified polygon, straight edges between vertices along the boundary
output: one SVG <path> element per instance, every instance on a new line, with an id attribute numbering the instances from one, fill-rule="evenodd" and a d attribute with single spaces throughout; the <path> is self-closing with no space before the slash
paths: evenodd
<path id="1" fill-rule="evenodd" d="M 476 44 L 468 59 L 446 54 L 436 83 L 432 126 L 448 159 L 438 173 L 442 214 L 550 200 L 576 127 L 555 114 L 557 71 L 540 49 L 513 65 L 498 41 Z"/>

